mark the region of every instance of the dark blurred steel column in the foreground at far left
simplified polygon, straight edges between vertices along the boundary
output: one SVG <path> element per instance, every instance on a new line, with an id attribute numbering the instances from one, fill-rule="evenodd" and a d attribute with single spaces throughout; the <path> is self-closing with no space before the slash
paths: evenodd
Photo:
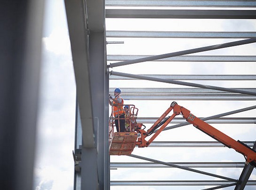
<path id="1" fill-rule="evenodd" d="M 0 189 L 32 190 L 44 0 L 0 9 Z"/>

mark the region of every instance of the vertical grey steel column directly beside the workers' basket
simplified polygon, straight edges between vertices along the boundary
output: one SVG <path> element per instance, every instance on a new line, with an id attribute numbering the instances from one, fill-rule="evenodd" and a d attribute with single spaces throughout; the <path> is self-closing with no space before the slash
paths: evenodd
<path id="1" fill-rule="evenodd" d="M 105 177 L 109 176 L 109 153 L 108 153 L 108 86 L 106 86 L 106 41 L 105 31 L 91 31 L 89 40 L 89 69 L 90 82 L 92 90 L 92 104 L 93 104 L 93 120 L 94 131 L 97 144 L 97 162 L 99 175 L 99 188 L 108 188 L 108 181 Z M 106 189 L 107 190 L 107 189 Z"/>

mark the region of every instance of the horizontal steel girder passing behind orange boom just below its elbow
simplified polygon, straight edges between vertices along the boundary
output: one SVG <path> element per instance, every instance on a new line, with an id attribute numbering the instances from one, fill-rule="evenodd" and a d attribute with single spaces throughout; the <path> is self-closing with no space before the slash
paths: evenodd
<path id="1" fill-rule="evenodd" d="M 157 117 L 138 117 L 137 122 L 139 123 L 155 123 Z M 202 118 L 200 118 L 202 119 Z M 171 123 L 186 122 L 184 118 L 174 118 Z M 255 117 L 225 117 L 208 120 L 207 123 L 218 123 L 218 124 L 256 124 Z"/>

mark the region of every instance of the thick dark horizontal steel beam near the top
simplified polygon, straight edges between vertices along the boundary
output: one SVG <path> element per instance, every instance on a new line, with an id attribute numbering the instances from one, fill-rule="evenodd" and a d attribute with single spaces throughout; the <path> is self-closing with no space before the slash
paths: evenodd
<path id="1" fill-rule="evenodd" d="M 106 9 L 106 18 L 256 19 L 256 10 Z"/>

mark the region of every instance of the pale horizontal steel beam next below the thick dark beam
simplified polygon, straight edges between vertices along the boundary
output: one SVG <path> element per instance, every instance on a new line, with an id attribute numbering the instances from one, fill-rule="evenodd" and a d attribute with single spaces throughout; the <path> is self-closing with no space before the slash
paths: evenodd
<path id="1" fill-rule="evenodd" d="M 107 38 L 256 38 L 256 32 L 106 31 Z"/>

